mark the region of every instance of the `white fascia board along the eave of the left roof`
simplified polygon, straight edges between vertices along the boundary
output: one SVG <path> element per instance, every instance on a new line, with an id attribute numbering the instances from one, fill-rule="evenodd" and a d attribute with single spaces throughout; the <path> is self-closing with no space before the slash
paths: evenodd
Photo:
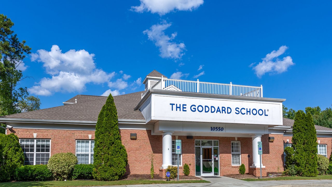
<path id="1" fill-rule="evenodd" d="M 119 119 L 121 124 L 144 124 L 145 120 Z M 43 120 L 43 119 L 21 119 L 21 118 L 0 118 L 1 123 L 43 123 L 43 124 L 72 124 L 72 125 L 96 125 L 96 121 L 74 121 L 74 120 Z"/>

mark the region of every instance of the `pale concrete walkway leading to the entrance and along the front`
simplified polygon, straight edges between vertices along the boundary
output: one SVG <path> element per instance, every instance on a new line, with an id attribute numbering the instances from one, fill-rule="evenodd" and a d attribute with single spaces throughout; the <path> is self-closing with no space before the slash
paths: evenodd
<path id="1" fill-rule="evenodd" d="M 332 187 L 332 180 L 243 181 L 229 177 L 200 177 L 211 183 L 140 184 L 110 187 Z M 105 186 L 104 186 L 105 187 Z"/>

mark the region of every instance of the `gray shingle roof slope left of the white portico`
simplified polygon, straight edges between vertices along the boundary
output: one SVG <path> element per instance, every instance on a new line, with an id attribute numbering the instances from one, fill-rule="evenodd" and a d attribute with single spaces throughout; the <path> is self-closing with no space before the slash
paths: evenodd
<path id="1" fill-rule="evenodd" d="M 145 120 L 139 110 L 134 111 L 144 92 L 114 96 L 119 119 Z M 104 96 L 77 95 L 67 102 L 75 102 L 75 98 L 77 98 L 77 103 L 74 104 L 12 114 L 4 116 L 4 118 L 97 121 L 99 112 L 107 99 Z"/>

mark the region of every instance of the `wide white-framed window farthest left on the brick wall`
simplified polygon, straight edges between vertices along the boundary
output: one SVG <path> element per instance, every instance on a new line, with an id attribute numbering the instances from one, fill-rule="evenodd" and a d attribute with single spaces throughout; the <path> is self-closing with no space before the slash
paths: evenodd
<path id="1" fill-rule="evenodd" d="M 24 165 L 47 164 L 51 140 L 45 139 L 20 139 L 21 148 L 24 153 Z"/>

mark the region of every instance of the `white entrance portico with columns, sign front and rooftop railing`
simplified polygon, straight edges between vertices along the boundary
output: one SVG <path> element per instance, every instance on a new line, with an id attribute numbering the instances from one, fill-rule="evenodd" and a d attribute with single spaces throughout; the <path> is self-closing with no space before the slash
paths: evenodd
<path id="1" fill-rule="evenodd" d="M 227 94 L 222 94 L 225 91 Z M 192 144 L 187 146 L 195 147 L 195 152 L 193 150 L 191 153 L 195 154 L 196 175 L 219 175 L 223 169 L 219 169 L 220 162 L 225 161 L 221 152 L 231 155 L 228 159 L 232 167 L 239 166 L 241 143 L 250 143 L 251 150 L 246 149 L 249 171 L 256 173 L 261 165 L 257 142 L 261 141 L 263 135 L 269 134 L 269 127 L 282 125 L 282 102 L 285 101 L 263 98 L 262 91 L 262 86 L 202 83 L 161 77 L 154 86 L 147 87 L 135 110 L 141 111 L 146 123 L 154 123 L 152 135 L 163 137 L 161 170 L 172 165 L 172 136 L 182 136 L 193 139 Z M 227 143 L 224 141 L 226 137 Z M 238 138 L 243 138 L 241 140 L 245 142 L 237 141 Z M 225 146 L 231 150 L 219 151 L 225 149 Z M 263 164 L 262 168 L 265 168 Z"/>

